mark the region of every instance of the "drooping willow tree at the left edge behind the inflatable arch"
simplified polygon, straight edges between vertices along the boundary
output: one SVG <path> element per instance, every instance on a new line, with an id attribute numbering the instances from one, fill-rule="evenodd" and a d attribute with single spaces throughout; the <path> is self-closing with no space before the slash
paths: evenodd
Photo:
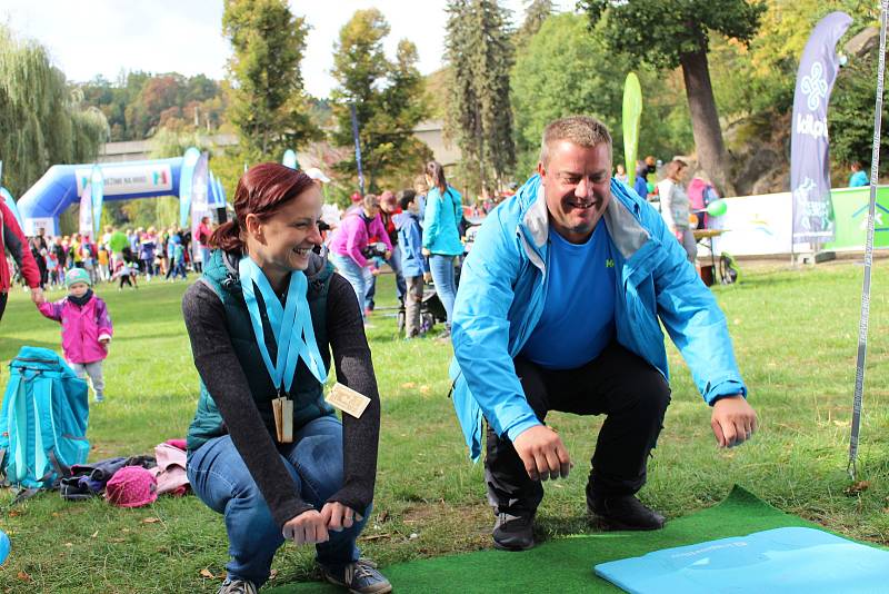
<path id="1" fill-rule="evenodd" d="M 91 161 L 108 137 L 98 109 L 52 66 L 42 46 L 0 24 L 0 160 L 2 184 L 22 194 L 54 164 Z"/>

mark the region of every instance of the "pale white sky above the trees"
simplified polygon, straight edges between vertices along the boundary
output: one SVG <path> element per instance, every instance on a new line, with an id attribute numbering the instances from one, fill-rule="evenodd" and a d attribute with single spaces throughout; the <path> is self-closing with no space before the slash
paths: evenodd
<path id="1" fill-rule="evenodd" d="M 293 13 L 311 24 L 302 73 L 306 89 L 327 97 L 334 81 L 333 42 L 356 10 L 376 7 L 391 26 L 386 51 L 391 57 L 399 39 L 417 43 L 420 71 L 441 67 L 444 0 L 290 0 Z M 520 22 L 527 0 L 502 2 Z M 575 0 L 557 0 L 571 10 Z M 307 14 L 308 7 L 323 7 Z M 222 0 L 2 0 L 0 21 L 20 36 L 49 48 L 52 59 L 70 80 L 87 81 L 102 75 L 116 80 L 122 70 L 204 73 L 224 77 L 230 55 L 222 38 Z"/>

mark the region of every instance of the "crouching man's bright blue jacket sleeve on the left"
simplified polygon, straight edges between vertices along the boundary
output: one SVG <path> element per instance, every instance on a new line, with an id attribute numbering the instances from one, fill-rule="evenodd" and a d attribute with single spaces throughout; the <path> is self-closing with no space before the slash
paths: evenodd
<path id="1" fill-rule="evenodd" d="M 489 216 L 463 264 L 453 307 L 453 353 L 469 392 L 498 435 L 541 425 L 509 353 L 509 309 L 521 268 L 515 232 Z"/>

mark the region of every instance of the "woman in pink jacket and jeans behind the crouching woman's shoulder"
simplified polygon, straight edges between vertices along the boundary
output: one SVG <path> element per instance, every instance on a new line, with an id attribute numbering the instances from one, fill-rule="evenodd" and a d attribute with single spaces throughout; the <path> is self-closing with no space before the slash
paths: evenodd
<path id="1" fill-rule="evenodd" d="M 330 261 L 346 277 L 358 297 L 358 307 L 367 319 L 366 298 L 373 279 L 373 257 L 392 257 L 392 242 L 380 219 L 380 202 L 368 194 L 361 208 L 347 214 L 330 239 Z"/>

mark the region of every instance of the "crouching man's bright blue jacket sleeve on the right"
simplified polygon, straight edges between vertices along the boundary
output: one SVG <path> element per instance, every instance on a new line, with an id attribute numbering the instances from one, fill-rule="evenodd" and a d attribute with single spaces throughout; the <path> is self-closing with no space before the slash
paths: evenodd
<path id="1" fill-rule="evenodd" d="M 649 229 L 668 256 L 655 270 L 658 316 L 682 358 L 691 368 L 698 390 L 707 404 L 721 396 L 741 394 L 747 387 L 741 379 L 731 346 L 726 316 L 687 259 L 686 251 L 670 234 L 653 208 L 648 217 Z"/>

